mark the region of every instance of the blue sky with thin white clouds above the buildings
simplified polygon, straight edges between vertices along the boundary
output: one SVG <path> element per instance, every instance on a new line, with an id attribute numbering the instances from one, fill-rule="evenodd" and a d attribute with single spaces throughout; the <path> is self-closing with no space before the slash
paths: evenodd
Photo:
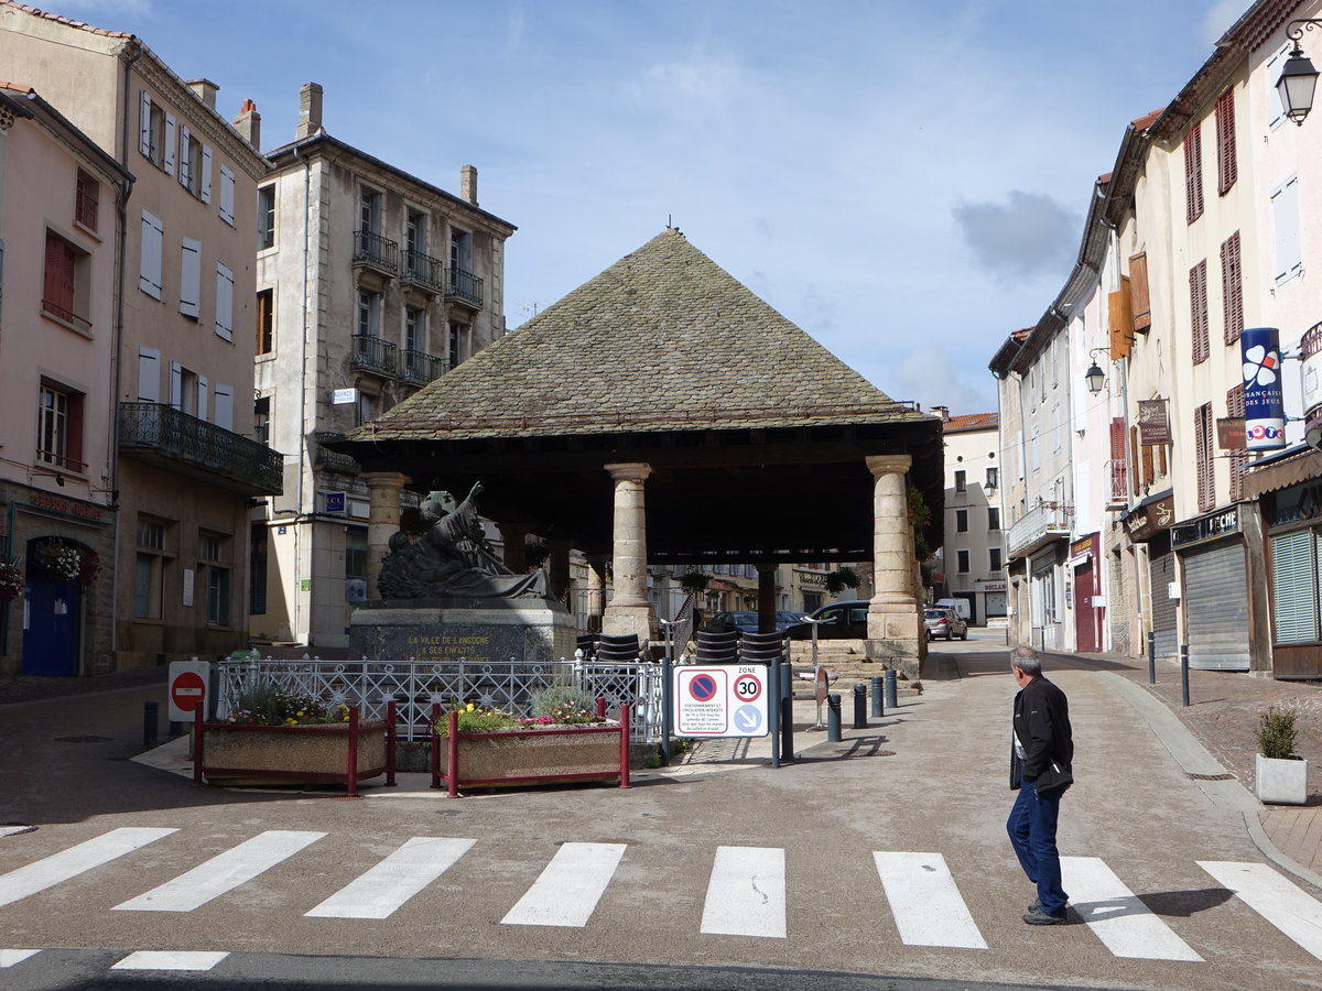
<path id="1" fill-rule="evenodd" d="M 997 408 L 1097 176 L 1249 0 L 29 0 L 137 34 L 293 140 L 516 225 L 516 330 L 668 223 L 892 399 Z M 727 361 L 731 355 L 713 355 Z M 571 388 L 572 383 L 566 383 Z"/>

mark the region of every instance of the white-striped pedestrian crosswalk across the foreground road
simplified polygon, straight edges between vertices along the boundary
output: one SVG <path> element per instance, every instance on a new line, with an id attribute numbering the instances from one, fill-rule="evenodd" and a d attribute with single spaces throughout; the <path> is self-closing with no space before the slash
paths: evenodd
<path id="1" fill-rule="evenodd" d="M 81 875 L 103 871 L 114 862 L 131 865 L 144 847 L 176 832 L 176 828 L 115 828 L 0 875 L 0 930 L 3 906 L 38 896 Z M 111 908 L 115 912 L 184 913 L 218 899 L 234 899 L 233 904 L 226 902 L 227 906 L 242 908 L 237 889 L 291 858 L 315 855 L 317 844 L 328 835 L 292 830 L 258 832 L 200 864 L 184 865 L 172 880 Z M 389 918 L 414 899 L 424 899 L 432 883 L 483 844 L 484 840 L 473 838 L 412 836 L 311 909 L 307 902 L 290 909 L 309 918 Z M 599 917 L 600 904 L 621 863 L 628 862 L 629 850 L 627 843 L 559 844 L 541 875 L 505 910 L 501 925 L 590 926 Z M 695 856 L 690 851 L 689 873 Z M 989 949 L 977 913 L 965 900 L 968 892 L 961 889 L 941 854 L 873 851 L 873 859 L 876 869 L 873 884 L 879 880 L 878 893 L 884 895 L 884 900 L 870 902 L 867 910 L 874 914 L 888 910 L 906 946 Z M 706 880 L 701 920 L 695 921 L 701 936 L 763 939 L 795 936 L 789 925 L 792 892 L 787 884 L 785 850 L 720 846 L 698 860 L 703 863 Z M 1322 961 L 1322 902 L 1268 864 L 1219 860 L 1196 864 L 1282 937 Z M 1085 932 L 1114 957 L 1204 961 L 1198 949 L 1196 926 L 1177 933 L 1179 922 L 1173 928 L 1153 912 L 1100 858 L 1062 858 L 1062 872 L 1073 912 Z M 964 888 L 970 888 L 981 884 L 982 877 L 974 875 L 964 881 Z M 985 905 L 985 900 L 981 904 Z M 1003 914 L 999 901 L 995 912 Z M 984 925 L 986 922 L 984 920 Z M 0 970 L 17 966 L 34 953 L 0 947 Z M 208 959 L 189 957 L 185 963 L 172 963 L 163 958 L 160 963 L 163 967 L 202 967 Z"/>

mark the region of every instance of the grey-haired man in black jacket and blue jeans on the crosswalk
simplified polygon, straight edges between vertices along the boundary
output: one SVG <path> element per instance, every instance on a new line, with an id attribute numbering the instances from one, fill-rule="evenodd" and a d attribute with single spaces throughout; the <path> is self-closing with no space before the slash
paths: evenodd
<path id="1" fill-rule="evenodd" d="M 1010 653 L 1010 673 L 1019 686 L 1014 696 L 1010 788 L 1019 794 L 1005 827 L 1023 872 L 1038 885 L 1038 897 L 1023 921 L 1059 925 L 1066 921 L 1067 896 L 1060 887 L 1056 817 L 1060 797 L 1073 782 L 1069 704 L 1066 694 L 1042 677 L 1042 659 L 1032 647 Z"/>

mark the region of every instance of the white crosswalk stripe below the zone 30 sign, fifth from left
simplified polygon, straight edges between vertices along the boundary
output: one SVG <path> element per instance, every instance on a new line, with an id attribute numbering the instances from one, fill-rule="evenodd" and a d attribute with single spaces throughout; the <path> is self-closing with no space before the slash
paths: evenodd
<path id="1" fill-rule="evenodd" d="M 785 851 L 717 847 L 701 932 L 785 938 Z"/>

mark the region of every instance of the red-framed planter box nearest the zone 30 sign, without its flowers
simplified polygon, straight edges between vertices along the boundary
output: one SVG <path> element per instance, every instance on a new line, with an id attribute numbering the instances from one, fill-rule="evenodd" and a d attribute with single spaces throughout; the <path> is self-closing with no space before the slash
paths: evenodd
<path id="1" fill-rule="evenodd" d="M 629 712 L 608 725 L 538 727 L 461 733 L 449 714 L 449 735 L 432 733 L 431 786 L 449 795 L 460 788 L 510 788 L 620 780 L 629 786 Z"/>

